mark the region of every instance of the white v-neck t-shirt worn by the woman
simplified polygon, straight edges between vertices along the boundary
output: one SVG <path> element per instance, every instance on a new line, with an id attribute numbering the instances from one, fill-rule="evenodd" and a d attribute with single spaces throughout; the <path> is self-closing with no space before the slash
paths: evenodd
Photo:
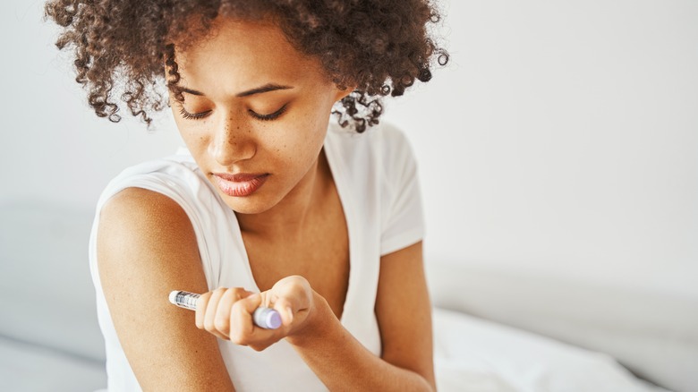
<path id="1" fill-rule="evenodd" d="M 380 257 L 423 236 L 421 194 L 412 150 L 402 132 L 381 125 L 359 134 L 330 125 L 324 150 L 345 212 L 349 235 L 349 286 L 342 325 L 371 353 L 381 342 L 374 312 Z M 89 241 L 89 267 L 97 291 L 98 320 L 106 341 L 110 391 L 140 390 L 116 336 L 97 264 L 99 211 L 125 188 L 138 187 L 175 200 L 192 221 L 209 289 L 243 287 L 259 292 L 234 212 L 220 199 L 186 149 L 132 166 L 106 186 Z M 177 287 L 173 287 L 173 290 Z M 327 390 L 285 340 L 262 352 L 218 340 L 237 390 Z"/>

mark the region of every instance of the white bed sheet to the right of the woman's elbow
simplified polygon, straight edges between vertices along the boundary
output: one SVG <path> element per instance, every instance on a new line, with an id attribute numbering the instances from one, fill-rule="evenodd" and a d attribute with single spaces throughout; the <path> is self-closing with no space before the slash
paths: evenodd
<path id="1" fill-rule="evenodd" d="M 635 378 L 607 354 L 438 308 L 434 364 L 444 392 L 668 391 Z"/>

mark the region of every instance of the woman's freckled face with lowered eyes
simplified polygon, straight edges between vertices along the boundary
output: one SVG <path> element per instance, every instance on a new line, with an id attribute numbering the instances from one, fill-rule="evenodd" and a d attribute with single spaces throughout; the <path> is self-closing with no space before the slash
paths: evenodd
<path id="1" fill-rule="evenodd" d="M 275 25 L 219 18 L 212 38 L 177 52 L 184 142 L 236 212 L 256 214 L 311 183 L 337 89 Z"/>

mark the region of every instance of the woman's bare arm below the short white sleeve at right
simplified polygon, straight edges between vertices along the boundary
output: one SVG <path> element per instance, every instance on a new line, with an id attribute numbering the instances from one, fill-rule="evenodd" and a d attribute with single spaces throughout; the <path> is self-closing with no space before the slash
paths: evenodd
<path id="1" fill-rule="evenodd" d="M 382 358 L 421 374 L 435 388 L 431 303 L 421 242 L 380 258 L 376 317 Z"/>

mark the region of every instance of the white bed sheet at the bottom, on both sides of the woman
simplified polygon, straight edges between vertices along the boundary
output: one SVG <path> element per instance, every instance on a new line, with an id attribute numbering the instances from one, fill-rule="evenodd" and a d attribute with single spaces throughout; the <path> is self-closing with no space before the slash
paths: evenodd
<path id="1" fill-rule="evenodd" d="M 606 354 L 455 311 L 434 310 L 441 392 L 667 392 L 636 379 Z M 106 387 L 102 362 L 0 338 L 3 390 Z"/>

